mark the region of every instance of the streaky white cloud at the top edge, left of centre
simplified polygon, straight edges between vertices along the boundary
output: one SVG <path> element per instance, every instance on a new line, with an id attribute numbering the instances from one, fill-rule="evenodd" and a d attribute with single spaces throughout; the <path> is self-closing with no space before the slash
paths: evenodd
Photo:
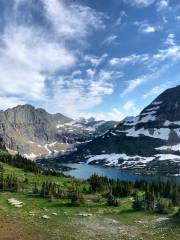
<path id="1" fill-rule="evenodd" d="M 59 0 L 43 0 L 47 18 L 60 37 L 81 40 L 92 29 L 104 28 L 102 14 L 76 3 L 65 4 Z"/>

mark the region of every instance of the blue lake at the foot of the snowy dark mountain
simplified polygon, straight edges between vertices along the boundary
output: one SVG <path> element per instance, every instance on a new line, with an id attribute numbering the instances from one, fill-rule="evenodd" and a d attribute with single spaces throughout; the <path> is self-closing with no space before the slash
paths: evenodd
<path id="1" fill-rule="evenodd" d="M 119 180 L 127 180 L 127 181 L 135 181 L 137 179 L 144 179 L 147 181 L 170 180 L 180 184 L 180 177 L 135 174 L 132 172 L 122 171 L 117 168 L 88 165 L 86 163 L 68 163 L 68 164 L 62 164 L 62 165 L 73 168 L 72 170 L 65 171 L 64 172 L 65 175 L 70 175 L 78 179 L 88 179 L 92 174 L 96 173 L 99 176 L 106 176 L 108 178 L 119 179 Z"/>

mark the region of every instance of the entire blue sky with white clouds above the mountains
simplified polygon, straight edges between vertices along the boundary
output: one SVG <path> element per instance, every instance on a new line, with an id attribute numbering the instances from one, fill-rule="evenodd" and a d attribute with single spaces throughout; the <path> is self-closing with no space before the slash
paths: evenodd
<path id="1" fill-rule="evenodd" d="M 180 84 L 179 0 L 0 0 L 0 108 L 120 121 Z"/>

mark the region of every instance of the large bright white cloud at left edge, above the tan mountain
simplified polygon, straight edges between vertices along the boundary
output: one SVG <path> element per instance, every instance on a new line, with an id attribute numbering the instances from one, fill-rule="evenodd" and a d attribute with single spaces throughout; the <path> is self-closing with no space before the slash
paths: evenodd
<path id="1" fill-rule="evenodd" d="M 71 67 L 75 60 L 62 44 L 48 41 L 36 29 L 9 26 L 0 48 L 0 90 L 43 98 L 46 75 Z"/>

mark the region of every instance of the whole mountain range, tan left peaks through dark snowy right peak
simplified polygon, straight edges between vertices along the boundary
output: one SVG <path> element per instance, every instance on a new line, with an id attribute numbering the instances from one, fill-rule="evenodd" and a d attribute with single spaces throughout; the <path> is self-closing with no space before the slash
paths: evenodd
<path id="1" fill-rule="evenodd" d="M 73 120 L 20 105 L 0 111 L 0 139 L 10 153 L 30 159 L 60 156 L 59 161 L 180 174 L 180 86 L 119 123 Z"/>

